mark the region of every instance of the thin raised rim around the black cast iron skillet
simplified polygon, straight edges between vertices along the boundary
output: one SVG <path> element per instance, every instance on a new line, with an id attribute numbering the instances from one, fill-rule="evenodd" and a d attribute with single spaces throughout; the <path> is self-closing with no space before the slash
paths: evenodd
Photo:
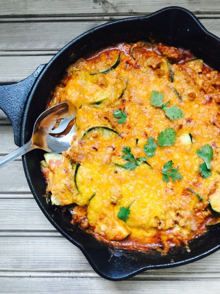
<path id="1" fill-rule="evenodd" d="M 157 15 L 160 15 L 160 13 L 164 12 L 164 11 L 168 11 L 168 10 L 182 10 L 185 13 L 187 13 L 193 20 L 194 22 L 197 24 L 197 26 L 199 26 L 200 29 L 202 29 L 204 31 L 204 33 L 212 38 L 214 38 L 216 41 L 220 42 L 220 39 L 215 36 L 214 34 L 210 33 L 209 31 L 207 31 L 207 29 L 205 29 L 205 27 L 201 24 L 201 22 L 197 19 L 196 16 L 194 16 L 194 14 L 182 7 L 179 6 L 169 6 L 169 7 L 165 7 L 163 9 L 160 9 L 158 11 L 155 11 L 147 16 L 135 16 L 135 17 L 129 17 L 129 18 L 125 18 L 125 19 L 119 19 L 116 21 L 111 21 L 105 24 L 101 24 L 100 26 L 97 26 L 93 29 L 90 29 L 89 31 L 77 36 L 75 39 L 73 39 L 72 41 L 70 41 L 67 45 L 65 45 L 60 51 L 57 52 L 57 54 L 48 62 L 48 64 L 43 68 L 43 70 L 41 71 L 40 75 L 37 77 L 35 84 L 31 90 L 31 92 L 29 93 L 29 97 L 27 99 L 27 103 L 25 106 L 25 110 L 24 110 L 24 114 L 23 114 L 23 120 L 22 120 L 22 127 L 21 127 L 21 143 L 24 144 L 25 143 L 25 129 L 26 129 L 26 120 L 27 120 L 27 116 L 28 116 L 28 112 L 29 112 L 29 107 L 30 107 L 30 103 L 32 101 L 33 95 L 35 93 L 35 89 L 37 88 L 39 82 L 41 81 L 42 77 L 44 76 L 45 72 L 48 70 L 48 68 L 50 67 L 50 65 L 56 61 L 56 59 L 66 50 L 68 49 L 70 46 L 72 46 L 72 44 L 74 44 L 75 42 L 79 41 L 81 38 L 92 34 L 93 32 L 102 29 L 104 27 L 108 27 L 114 24 L 118 24 L 118 23 L 126 23 L 127 21 L 132 21 L 132 20 L 143 20 L 143 19 L 148 19 Z M 44 215 L 46 216 L 46 218 L 50 221 L 50 223 L 65 237 L 67 238 L 67 240 L 69 240 L 71 243 L 73 243 L 74 245 L 76 245 L 84 254 L 84 256 L 87 258 L 89 264 L 92 266 L 92 268 L 103 278 L 106 278 L 108 280 L 112 280 L 112 281 L 120 281 L 120 280 L 125 280 L 127 278 L 130 278 L 134 275 L 137 275 L 138 273 L 141 273 L 145 270 L 148 269 L 159 269 L 159 268 L 173 268 L 179 265 L 184 265 L 187 263 L 191 263 L 193 261 L 199 260 L 201 258 L 206 257 L 207 255 L 210 255 L 211 253 L 214 253 L 215 251 L 220 249 L 220 243 L 215 246 L 214 248 L 211 248 L 210 250 L 199 254 L 193 258 L 188 258 L 185 260 L 181 260 L 178 262 L 174 262 L 174 263 L 166 263 L 166 264 L 158 264 L 158 265 L 146 265 L 143 266 L 139 269 L 136 270 L 132 270 L 129 273 L 123 274 L 120 277 L 114 277 L 112 275 L 106 275 L 104 273 L 102 273 L 97 266 L 95 265 L 94 261 L 92 260 L 92 258 L 90 257 L 89 253 L 87 253 L 87 250 L 83 247 L 83 245 L 81 243 L 79 243 L 77 240 L 74 240 L 67 232 L 65 232 L 56 222 L 56 220 L 54 220 L 50 214 L 48 213 L 47 209 L 43 206 L 43 203 L 40 200 L 40 197 L 42 196 L 38 196 L 37 193 L 35 192 L 35 189 L 32 185 L 32 180 L 31 180 L 31 176 L 28 172 L 28 163 L 27 163 L 27 156 L 24 155 L 22 157 L 22 161 L 23 161 L 23 168 L 24 168 L 24 172 L 28 181 L 28 185 L 31 189 L 31 192 L 35 198 L 35 201 L 38 203 L 38 206 L 40 207 L 41 211 L 44 213 Z M 109 246 L 110 247 L 110 246 Z"/>

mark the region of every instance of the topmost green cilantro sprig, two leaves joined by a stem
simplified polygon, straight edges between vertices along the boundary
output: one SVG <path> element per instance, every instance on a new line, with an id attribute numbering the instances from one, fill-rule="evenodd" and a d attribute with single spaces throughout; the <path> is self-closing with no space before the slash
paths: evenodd
<path id="1" fill-rule="evenodd" d="M 163 93 L 159 93 L 155 90 L 150 93 L 150 104 L 155 107 L 161 107 L 161 110 L 165 111 L 166 116 L 170 118 L 171 121 L 184 117 L 183 111 L 179 106 L 173 105 L 171 107 L 167 107 L 167 105 L 170 104 L 170 101 L 167 101 L 167 103 L 163 104 L 163 99 Z"/>

